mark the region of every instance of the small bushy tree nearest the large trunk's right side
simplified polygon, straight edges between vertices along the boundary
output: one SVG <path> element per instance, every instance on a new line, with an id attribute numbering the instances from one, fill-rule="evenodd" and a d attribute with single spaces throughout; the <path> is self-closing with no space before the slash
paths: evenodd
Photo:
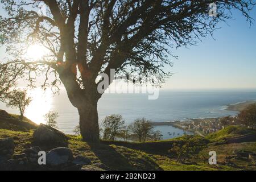
<path id="1" fill-rule="evenodd" d="M 105 117 L 102 121 L 102 126 L 104 127 L 104 139 L 115 140 L 115 137 L 123 129 L 125 121 L 122 115 L 112 114 Z"/>

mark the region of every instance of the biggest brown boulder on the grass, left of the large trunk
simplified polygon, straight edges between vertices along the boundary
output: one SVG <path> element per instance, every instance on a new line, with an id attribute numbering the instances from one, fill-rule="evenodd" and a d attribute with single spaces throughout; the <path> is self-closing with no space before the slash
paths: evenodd
<path id="1" fill-rule="evenodd" d="M 67 146 L 68 143 L 68 137 L 64 133 L 43 124 L 35 130 L 33 140 L 36 144 L 47 146 Z"/>

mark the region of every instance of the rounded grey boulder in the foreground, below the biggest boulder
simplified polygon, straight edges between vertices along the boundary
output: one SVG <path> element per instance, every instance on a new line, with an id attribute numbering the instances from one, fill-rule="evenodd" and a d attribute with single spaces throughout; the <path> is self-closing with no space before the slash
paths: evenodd
<path id="1" fill-rule="evenodd" d="M 54 148 L 46 155 L 46 164 L 50 166 L 60 166 L 71 163 L 73 160 L 73 153 L 69 148 L 60 147 Z"/>

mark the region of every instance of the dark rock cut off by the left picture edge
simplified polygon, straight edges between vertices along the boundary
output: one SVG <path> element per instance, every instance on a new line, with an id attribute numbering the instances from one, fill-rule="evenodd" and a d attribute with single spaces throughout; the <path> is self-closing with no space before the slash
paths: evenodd
<path id="1" fill-rule="evenodd" d="M 2 156 L 13 156 L 14 154 L 14 140 L 12 138 L 0 139 L 0 155 Z"/>

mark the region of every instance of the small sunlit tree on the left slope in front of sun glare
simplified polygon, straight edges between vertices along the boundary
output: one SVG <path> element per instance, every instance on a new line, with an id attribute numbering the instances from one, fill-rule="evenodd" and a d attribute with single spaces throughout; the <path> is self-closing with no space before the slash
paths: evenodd
<path id="1" fill-rule="evenodd" d="M 8 100 L 7 107 L 18 108 L 20 112 L 20 120 L 23 120 L 23 115 L 27 107 L 30 105 L 32 98 L 28 97 L 27 90 L 15 89 L 6 95 Z"/>

